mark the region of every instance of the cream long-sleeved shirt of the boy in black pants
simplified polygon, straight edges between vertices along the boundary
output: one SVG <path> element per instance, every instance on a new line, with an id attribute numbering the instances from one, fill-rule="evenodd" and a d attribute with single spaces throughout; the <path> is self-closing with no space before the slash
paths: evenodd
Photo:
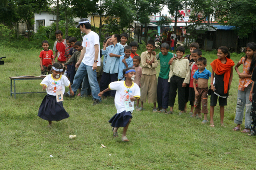
<path id="1" fill-rule="evenodd" d="M 178 76 L 181 78 L 185 78 L 183 83 L 189 83 L 190 81 L 190 67 L 189 61 L 182 57 L 180 60 L 176 58 L 170 66 L 169 80 L 172 76 Z"/>

